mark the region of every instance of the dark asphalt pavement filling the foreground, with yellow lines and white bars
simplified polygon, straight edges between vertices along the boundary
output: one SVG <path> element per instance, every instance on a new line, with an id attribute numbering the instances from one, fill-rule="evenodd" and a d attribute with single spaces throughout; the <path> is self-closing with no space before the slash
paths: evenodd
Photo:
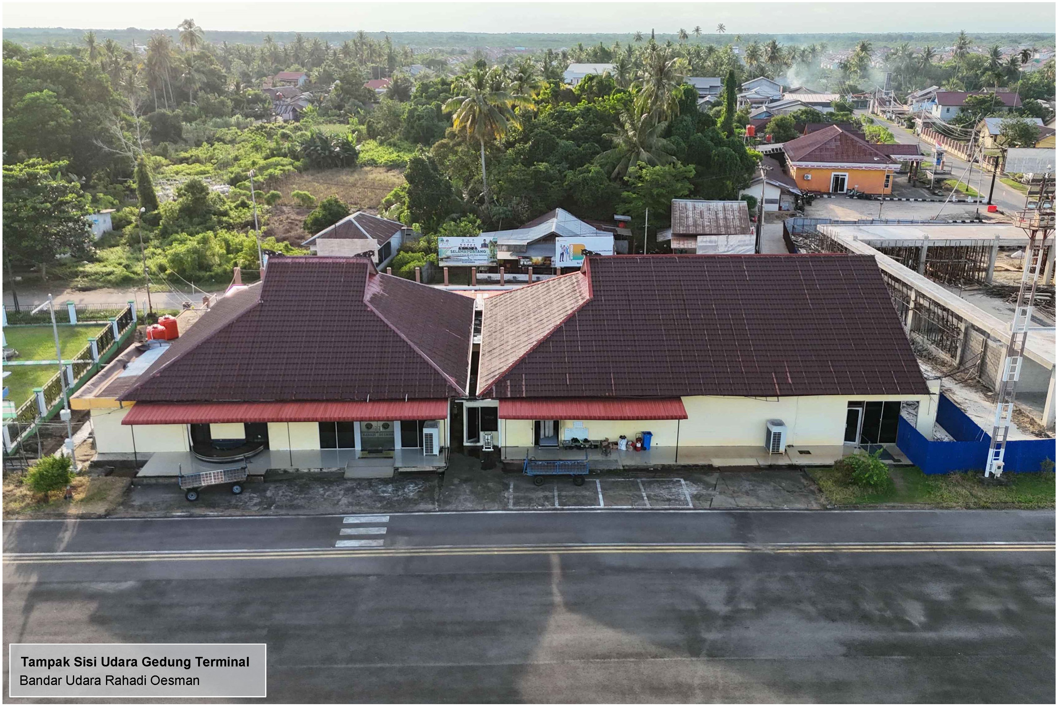
<path id="1" fill-rule="evenodd" d="M 3 631 L 265 641 L 279 702 L 1054 703 L 1054 543 L 1052 511 L 11 522 Z"/>

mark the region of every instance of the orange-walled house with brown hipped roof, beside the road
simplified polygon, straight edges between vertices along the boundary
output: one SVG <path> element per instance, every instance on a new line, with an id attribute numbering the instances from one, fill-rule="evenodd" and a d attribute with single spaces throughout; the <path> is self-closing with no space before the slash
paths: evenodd
<path id="1" fill-rule="evenodd" d="M 899 164 L 837 125 L 784 143 L 787 169 L 803 192 L 891 194 Z"/>

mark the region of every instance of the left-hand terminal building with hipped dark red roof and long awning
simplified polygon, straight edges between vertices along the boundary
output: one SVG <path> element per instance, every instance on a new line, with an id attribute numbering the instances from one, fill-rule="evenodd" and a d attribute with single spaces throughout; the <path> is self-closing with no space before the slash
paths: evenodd
<path id="1" fill-rule="evenodd" d="M 473 298 L 365 258 L 272 256 L 264 282 L 83 404 L 97 450 L 147 459 L 146 475 L 245 457 L 254 473 L 444 467 L 473 320 Z"/>

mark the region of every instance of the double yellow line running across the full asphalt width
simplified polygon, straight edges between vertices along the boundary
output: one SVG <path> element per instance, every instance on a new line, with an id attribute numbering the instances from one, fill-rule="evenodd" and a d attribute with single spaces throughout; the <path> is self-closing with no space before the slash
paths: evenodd
<path id="1" fill-rule="evenodd" d="M 152 561 L 221 561 L 248 559 L 370 559 L 397 557 L 480 557 L 576 554 L 922 554 L 983 551 L 1051 551 L 1054 542 L 1009 543 L 897 543 L 897 544 L 605 544 L 605 545 L 513 545 L 379 547 L 371 549 L 250 549 L 158 551 L 158 553 L 84 553 L 84 554 L 10 554 L 5 564 L 68 563 L 142 563 Z"/>

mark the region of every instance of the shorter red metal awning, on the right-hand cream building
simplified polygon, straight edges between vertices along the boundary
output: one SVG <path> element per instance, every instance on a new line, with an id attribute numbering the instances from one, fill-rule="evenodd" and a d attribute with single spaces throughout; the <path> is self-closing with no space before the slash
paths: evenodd
<path id="1" fill-rule="evenodd" d="M 501 419 L 687 419 L 681 399 L 502 399 Z"/>

